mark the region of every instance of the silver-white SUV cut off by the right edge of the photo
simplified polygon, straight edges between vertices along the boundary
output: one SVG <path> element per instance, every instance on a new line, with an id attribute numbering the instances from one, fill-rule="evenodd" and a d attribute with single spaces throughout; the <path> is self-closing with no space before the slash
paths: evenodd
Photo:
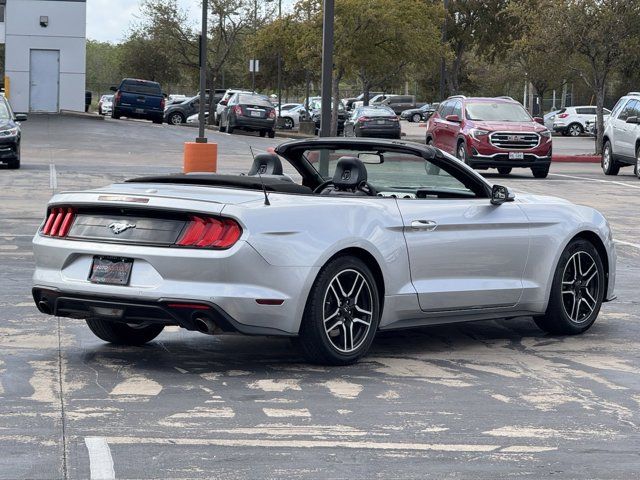
<path id="1" fill-rule="evenodd" d="M 640 178 L 640 92 L 629 92 L 616 103 L 604 126 L 602 171 L 617 175 L 620 167 L 634 166 Z"/>

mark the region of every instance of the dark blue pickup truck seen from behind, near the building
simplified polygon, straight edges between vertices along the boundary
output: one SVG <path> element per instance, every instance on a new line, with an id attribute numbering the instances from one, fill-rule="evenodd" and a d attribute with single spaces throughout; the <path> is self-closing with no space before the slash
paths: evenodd
<path id="1" fill-rule="evenodd" d="M 119 87 L 111 87 L 113 96 L 111 118 L 142 118 L 162 123 L 164 95 L 158 82 L 125 78 Z"/>

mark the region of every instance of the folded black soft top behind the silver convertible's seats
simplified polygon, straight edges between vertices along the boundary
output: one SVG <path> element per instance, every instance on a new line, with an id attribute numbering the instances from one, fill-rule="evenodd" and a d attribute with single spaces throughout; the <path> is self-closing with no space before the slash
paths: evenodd
<path id="1" fill-rule="evenodd" d="M 196 175 L 160 175 L 154 177 L 140 177 L 126 180 L 127 183 L 172 183 L 185 185 L 201 185 L 210 187 L 244 188 L 247 190 L 262 190 L 264 185 L 268 192 L 300 193 L 309 195 L 313 191 L 304 185 L 298 185 L 288 180 L 265 175 L 260 177 L 248 175 L 218 175 L 203 173 Z"/>

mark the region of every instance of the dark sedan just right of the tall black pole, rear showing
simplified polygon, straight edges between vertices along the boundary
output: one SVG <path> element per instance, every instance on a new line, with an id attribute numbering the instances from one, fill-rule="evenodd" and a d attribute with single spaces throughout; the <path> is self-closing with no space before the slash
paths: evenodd
<path id="1" fill-rule="evenodd" d="M 400 122 L 384 105 L 356 108 L 344 124 L 345 137 L 400 138 Z"/>

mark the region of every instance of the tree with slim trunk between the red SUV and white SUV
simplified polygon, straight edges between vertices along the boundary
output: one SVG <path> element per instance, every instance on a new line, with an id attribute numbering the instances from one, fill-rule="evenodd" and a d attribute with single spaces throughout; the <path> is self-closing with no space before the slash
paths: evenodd
<path id="1" fill-rule="evenodd" d="M 556 48 L 574 53 L 572 68 L 596 97 L 596 153 L 602 153 L 603 108 L 607 80 L 637 52 L 640 0 L 543 0 L 549 7 L 549 25 Z"/>

